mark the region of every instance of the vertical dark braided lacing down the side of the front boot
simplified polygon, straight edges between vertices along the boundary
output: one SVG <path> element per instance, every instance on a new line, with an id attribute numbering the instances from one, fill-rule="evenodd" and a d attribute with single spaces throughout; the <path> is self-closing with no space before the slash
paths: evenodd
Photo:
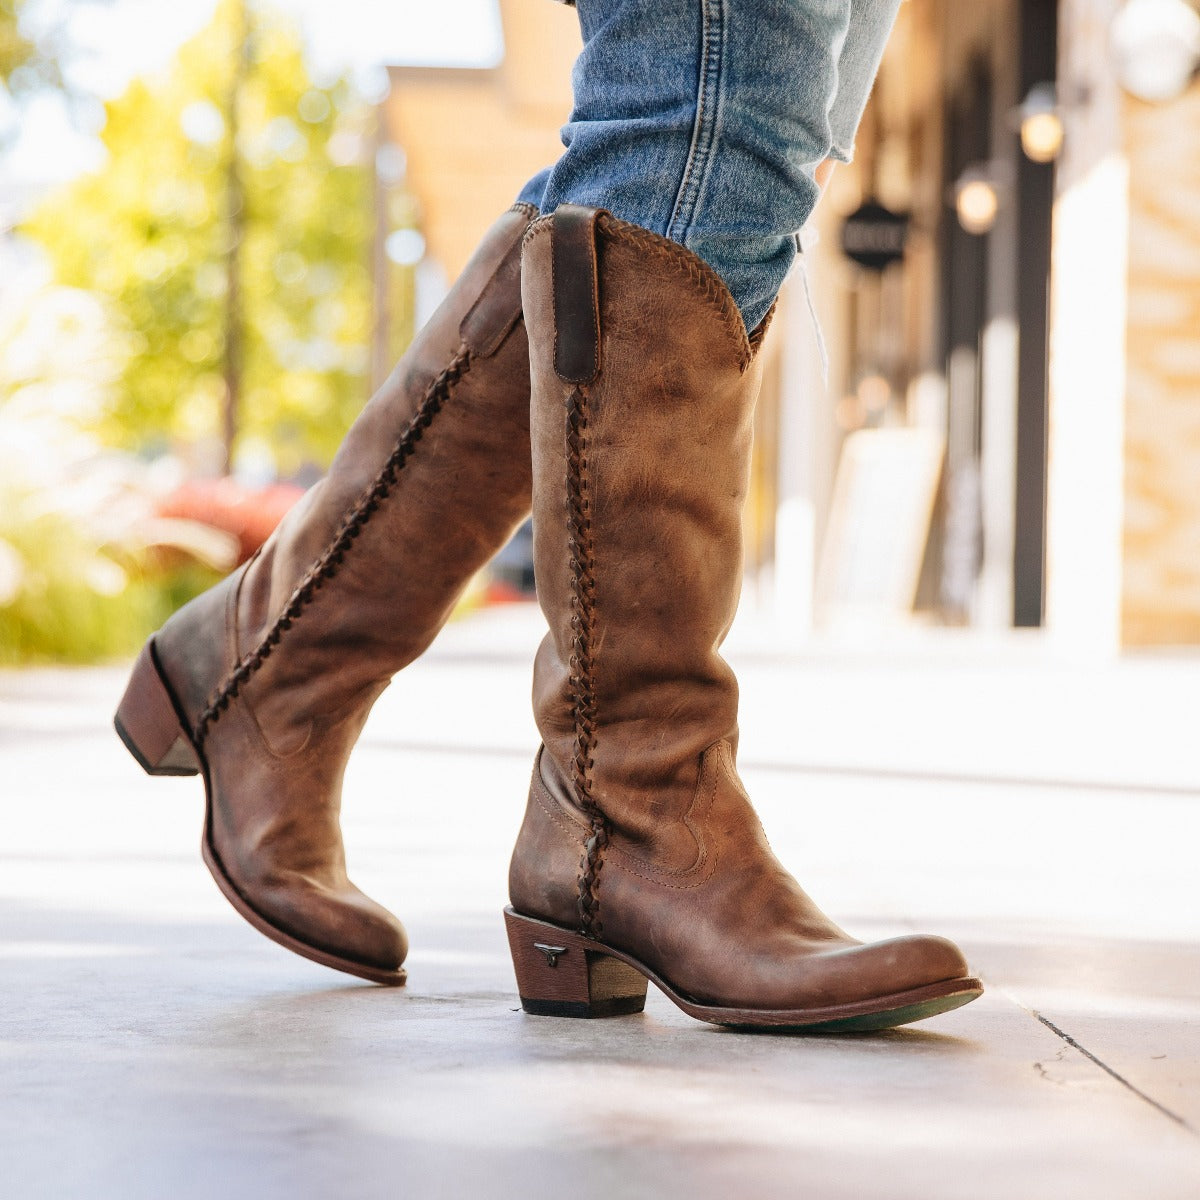
<path id="1" fill-rule="evenodd" d="M 566 402 L 566 508 L 568 548 L 571 569 L 571 695 L 575 718 L 575 754 L 571 784 L 580 808 L 592 826 L 592 836 L 580 862 L 580 929 L 588 937 L 600 937 L 600 869 L 608 845 L 608 822 L 592 794 L 592 768 L 596 742 L 595 662 L 595 553 L 592 542 L 592 515 L 588 498 L 588 408 L 581 388 Z"/>

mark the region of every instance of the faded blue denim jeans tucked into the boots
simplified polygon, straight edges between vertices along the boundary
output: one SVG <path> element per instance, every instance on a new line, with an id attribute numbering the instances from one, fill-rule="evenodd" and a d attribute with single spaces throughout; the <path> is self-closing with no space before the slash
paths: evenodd
<path id="1" fill-rule="evenodd" d="M 712 265 L 767 314 L 826 158 L 848 162 L 900 0 L 577 0 L 565 154 L 521 199 L 588 204 Z"/>

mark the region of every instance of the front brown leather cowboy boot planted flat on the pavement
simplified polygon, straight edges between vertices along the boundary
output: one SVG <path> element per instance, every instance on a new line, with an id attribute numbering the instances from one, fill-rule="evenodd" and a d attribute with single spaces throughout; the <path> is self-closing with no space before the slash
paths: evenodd
<path id="1" fill-rule="evenodd" d="M 526 238 L 542 749 L 509 878 L 527 1012 L 874 1030 L 982 991 L 938 937 L 864 946 L 773 856 L 734 768 L 760 332 L 716 275 L 607 212 Z"/>

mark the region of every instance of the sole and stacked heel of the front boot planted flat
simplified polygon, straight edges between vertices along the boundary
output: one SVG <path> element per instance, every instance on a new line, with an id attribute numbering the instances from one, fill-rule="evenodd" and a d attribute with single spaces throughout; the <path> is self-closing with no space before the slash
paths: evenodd
<path id="1" fill-rule="evenodd" d="M 983 995 L 971 977 L 823 1008 L 758 1009 L 701 1004 L 631 954 L 575 930 L 504 910 L 521 1007 L 536 1016 L 622 1016 L 642 1012 L 653 983 L 689 1016 L 710 1025 L 776 1033 L 866 1033 L 922 1021 Z"/>

